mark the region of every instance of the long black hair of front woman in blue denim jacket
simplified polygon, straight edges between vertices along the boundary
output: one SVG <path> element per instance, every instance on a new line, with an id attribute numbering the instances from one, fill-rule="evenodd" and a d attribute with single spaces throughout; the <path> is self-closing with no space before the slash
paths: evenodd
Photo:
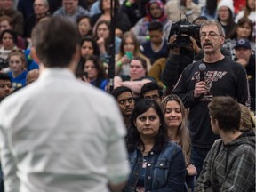
<path id="1" fill-rule="evenodd" d="M 149 100 L 149 99 L 140 100 L 135 105 L 135 108 L 132 111 L 132 116 L 130 119 L 130 127 L 128 129 L 128 135 L 127 135 L 127 148 L 129 152 L 137 148 L 138 145 L 141 145 L 143 150 L 145 149 L 144 144 L 140 139 L 140 133 L 138 132 L 134 122 L 136 121 L 136 118 L 140 116 L 140 114 L 145 113 L 146 111 L 148 111 L 149 108 L 153 108 L 154 110 L 156 110 L 156 114 L 160 118 L 159 132 L 155 136 L 156 148 L 159 148 L 159 149 L 164 148 L 164 143 L 168 140 L 167 130 L 164 125 L 164 116 L 156 100 Z"/>

